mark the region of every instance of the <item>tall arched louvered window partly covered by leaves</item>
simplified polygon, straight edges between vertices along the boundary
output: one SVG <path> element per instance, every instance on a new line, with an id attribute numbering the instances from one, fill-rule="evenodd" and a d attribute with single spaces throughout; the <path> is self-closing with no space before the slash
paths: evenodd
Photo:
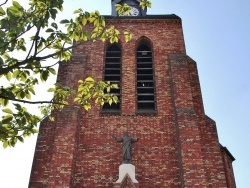
<path id="1" fill-rule="evenodd" d="M 106 50 L 104 80 L 118 84 L 120 88 L 121 49 L 117 44 L 109 46 Z M 111 89 L 110 93 L 117 95 L 119 102 L 117 104 L 112 103 L 111 105 L 109 105 L 108 103 L 104 103 L 102 111 L 107 113 L 120 112 L 120 89 Z"/>

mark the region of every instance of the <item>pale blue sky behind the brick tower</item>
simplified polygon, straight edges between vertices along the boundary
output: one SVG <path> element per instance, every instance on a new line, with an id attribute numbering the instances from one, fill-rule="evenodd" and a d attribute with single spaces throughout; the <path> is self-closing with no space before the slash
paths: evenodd
<path id="1" fill-rule="evenodd" d="M 64 16 L 74 9 L 109 15 L 111 0 L 65 0 Z M 152 0 L 148 14 L 182 18 L 187 54 L 197 62 L 206 114 L 216 121 L 220 143 L 236 161 L 237 187 L 250 185 L 250 1 Z M 0 149 L 0 187 L 26 188 L 36 137 Z M 4 169 L 4 170 L 3 170 Z"/>

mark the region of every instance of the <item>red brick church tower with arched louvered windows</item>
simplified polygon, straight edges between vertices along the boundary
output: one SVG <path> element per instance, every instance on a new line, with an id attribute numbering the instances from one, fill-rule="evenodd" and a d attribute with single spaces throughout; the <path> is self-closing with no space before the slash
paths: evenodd
<path id="1" fill-rule="evenodd" d="M 131 16 L 117 16 L 114 3 L 128 3 Z M 71 63 L 61 64 L 58 82 L 79 79 L 118 83 L 119 103 L 86 113 L 80 106 L 54 111 L 41 123 L 29 187 L 230 187 L 234 157 L 204 113 L 196 62 L 186 55 L 181 19 L 147 15 L 139 0 L 112 0 L 106 22 L 133 33 L 126 43 L 83 43 Z M 119 178 L 121 144 L 128 131 L 135 178 Z"/>

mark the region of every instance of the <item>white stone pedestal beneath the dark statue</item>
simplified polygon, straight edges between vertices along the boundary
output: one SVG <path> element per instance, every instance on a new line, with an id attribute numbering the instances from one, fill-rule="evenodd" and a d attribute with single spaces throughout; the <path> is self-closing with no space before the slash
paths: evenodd
<path id="1" fill-rule="evenodd" d="M 122 164 L 119 166 L 119 179 L 115 183 L 122 183 L 126 175 L 130 177 L 133 183 L 138 183 L 135 179 L 135 166 L 132 164 Z"/>

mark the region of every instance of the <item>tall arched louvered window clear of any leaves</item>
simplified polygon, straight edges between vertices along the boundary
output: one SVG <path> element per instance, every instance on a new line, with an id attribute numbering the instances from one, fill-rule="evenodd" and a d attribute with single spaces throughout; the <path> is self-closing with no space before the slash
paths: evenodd
<path id="1" fill-rule="evenodd" d="M 150 47 L 141 44 L 137 48 L 137 111 L 155 112 L 153 56 Z"/>

